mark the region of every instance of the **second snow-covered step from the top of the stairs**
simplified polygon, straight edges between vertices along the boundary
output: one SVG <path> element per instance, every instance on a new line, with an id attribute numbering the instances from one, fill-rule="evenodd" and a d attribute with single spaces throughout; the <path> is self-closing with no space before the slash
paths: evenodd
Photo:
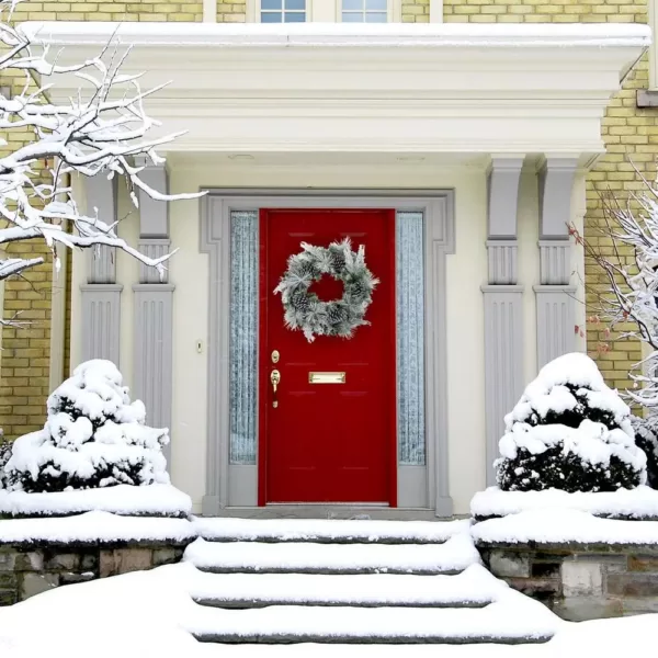
<path id="1" fill-rule="evenodd" d="M 480 558 L 469 535 L 444 544 L 215 543 L 196 540 L 184 559 L 216 574 L 458 574 Z"/>

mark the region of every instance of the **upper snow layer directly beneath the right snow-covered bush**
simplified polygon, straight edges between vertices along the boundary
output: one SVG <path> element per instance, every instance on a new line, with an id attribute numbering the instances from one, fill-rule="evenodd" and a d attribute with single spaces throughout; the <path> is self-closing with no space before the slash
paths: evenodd
<path id="1" fill-rule="evenodd" d="M 616 491 L 502 491 L 489 487 L 470 501 L 476 519 L 507 517 L 530 510 L 580 510 L 595 517 L 658 519 L 658 491 L 640 486 Z"/>

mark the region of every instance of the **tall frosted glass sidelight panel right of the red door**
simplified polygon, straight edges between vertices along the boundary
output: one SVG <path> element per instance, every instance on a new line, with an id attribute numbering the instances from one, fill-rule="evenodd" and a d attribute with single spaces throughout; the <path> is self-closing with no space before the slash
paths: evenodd
<path id="1" fill-rule="evenodd" d="M 426 463 L 423 215 L 396 217 L 399 463 Z"/>

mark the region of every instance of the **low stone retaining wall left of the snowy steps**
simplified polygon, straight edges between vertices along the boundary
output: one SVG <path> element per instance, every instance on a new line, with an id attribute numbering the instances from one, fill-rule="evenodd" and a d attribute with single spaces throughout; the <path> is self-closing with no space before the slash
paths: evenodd
<path id="1" fill-rule="evenodd" d="M 0 545 L 0 605 L 12 605 L 55 587 L 86 582 L 180 561 L 171 543 Z"/>

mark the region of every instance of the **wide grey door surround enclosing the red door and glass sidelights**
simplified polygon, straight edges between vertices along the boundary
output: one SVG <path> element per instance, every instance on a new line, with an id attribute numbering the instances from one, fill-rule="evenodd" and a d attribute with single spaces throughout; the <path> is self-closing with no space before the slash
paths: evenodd
<path id="1" fill-rule="evenodd" d="M 455 250 L 454 190 L 206 189 L 200 200 L 200 251 L 208 254 L 206 481 L 207 515 L 332 513 L 338 506 L 268 506 L 258 501 L 258 465 L 229 464 L 230 214 L 260 208 L 394 208 L 424 215 L 426 443 L 423 466 L 397 465 L 398 510 L 364 508 L 373 518 L 452 515 L 449 486 L 446 257 Z M 257 458 L 258 463 L 258 458 Z M 277 511 L 273 511 L 276 507 Z M 358 511 L 349 506 L 345 513 Z M 386 510 L 389 510 L 387 512 Z M 408 510 L 408 512 L 406 511 Z M 341 512 L 342 513 L 342 512 Z"/>

